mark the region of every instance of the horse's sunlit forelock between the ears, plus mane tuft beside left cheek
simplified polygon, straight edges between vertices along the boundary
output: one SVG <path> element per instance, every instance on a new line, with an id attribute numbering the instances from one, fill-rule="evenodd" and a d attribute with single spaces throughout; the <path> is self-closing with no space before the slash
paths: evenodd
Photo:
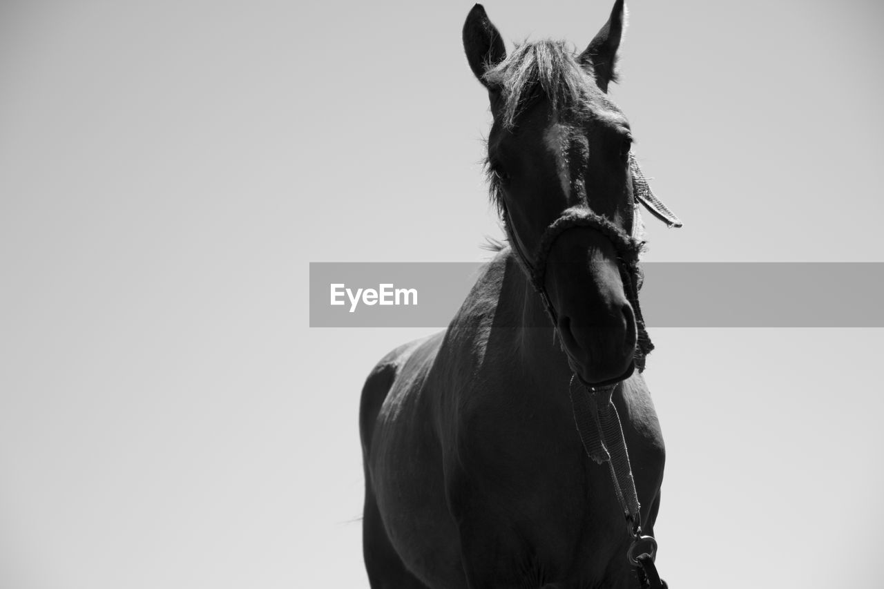
<path id="1" fill-rule="evenodd" d="M 565 42 L 549 39 L 516 45 L 506 59 L 484 73 L 483 80 L 500 92 L 500 124 L 507 129 L 514 128 L 519 115 L 540 96 L 546 96 L 555 116 L 587 101 L 587 88 L 595 85 L 593 74 L 577 63 L 575 52 Z M 487 159 L 484 168 L 489 196 L 502 215 L 500 180 Z"/>

